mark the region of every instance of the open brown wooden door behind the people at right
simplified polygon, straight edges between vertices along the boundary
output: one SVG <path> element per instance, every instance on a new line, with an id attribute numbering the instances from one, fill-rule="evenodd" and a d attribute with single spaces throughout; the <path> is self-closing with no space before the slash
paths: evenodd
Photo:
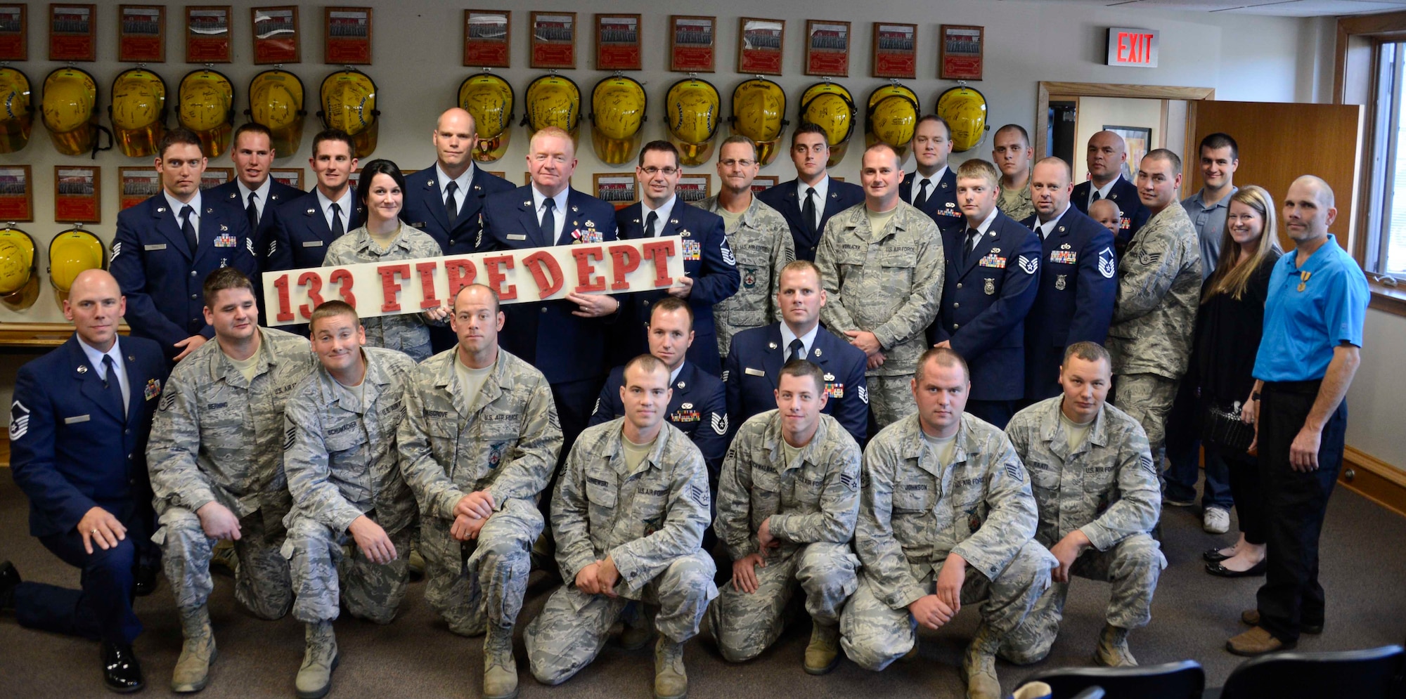
<path id="1" fill-rule="evenodd" d="M 1229 133 L 1240 145 L 1240 168 L 1234 184 L 1257 184 L 1271 197 L 1277 215 L 1282 215 L 1289 184 L 1305 174 L 1315 174 L 1333 187 L 1337 220 L 1329 230 L 1344 250 L 1351 251 L 1350 232 L 1357 230 L 1357 164 L 1361 143 L 1362 108 L 1355 104 L 1285 104 L 1192 101 L 1187 115 L 1187 180 L 1189 192 L 1201 189 L 1201 139 L 1211 133 Z M 1279 244 L 1294 243 L 1279 223 Z"/>

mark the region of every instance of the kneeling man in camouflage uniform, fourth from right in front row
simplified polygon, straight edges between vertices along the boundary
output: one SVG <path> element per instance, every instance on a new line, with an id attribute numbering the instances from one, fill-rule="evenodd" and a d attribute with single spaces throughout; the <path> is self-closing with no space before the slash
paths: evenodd
<path id="1" fill-rule="evenodd" d="M 688 435 L 664 420 L 668 366 L 641 355 L 624 375 L 626 415 L 581 432 L 562 466 L 551 531 L 567 584 L 523 640 L 533 675 L 557 685 L 595 660 L 626 604 L 658 605 L 655 696 L 682 698 L 683 643 L 697 634 L 717 597 L 713 559 L 700 547 L 709 525 L 707 469 Z M 640 439 L 631 444 L 654 442 L 634 469 L 627 465 L 627 427 Z"/>

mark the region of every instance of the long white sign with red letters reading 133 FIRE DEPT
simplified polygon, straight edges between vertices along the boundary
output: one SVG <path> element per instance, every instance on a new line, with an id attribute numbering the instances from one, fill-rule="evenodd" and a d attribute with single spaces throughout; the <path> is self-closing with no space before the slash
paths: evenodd
<path id="1" fill-rule="evenodd" d="M 350 303 L 360 317 L 420 313 L 447 306 L 460 288 L 484 284 L 502 303 L 562 299 L 568 293 L 665 289 L 683 277 L 678 236 L 596 244 L 501 250 L 263 274 L 270 326 L 307 323 L 322 302 Z"/>

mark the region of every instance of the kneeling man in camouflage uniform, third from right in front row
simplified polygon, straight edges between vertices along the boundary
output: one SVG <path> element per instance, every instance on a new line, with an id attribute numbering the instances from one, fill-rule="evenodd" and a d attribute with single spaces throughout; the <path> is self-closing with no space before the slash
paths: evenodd
<path id="1" fill-rule="evenodd" d="M 824 379 L 814 369 L 823 399 Z M 813 437 L 787 458 L 783 421 L 807 415 L 785 393 L 810 378 L 782 371 L 780 408 L 744 422 L 723 462 L 713 529 L 735 563 L 733 582 L 723 585 L 709 608 L 709 625 L 724 658 L 755 658 L 780 636 L 782 615 L 800 582 L 814 622 L 804 667 L 818 675 L 838 661 L 839 611 L 859 584 L 859 559 L 849 540 L 859 512 L 860 453 L 849 432 L 814 406 L 818 420 Z M 763 524 L 770 546 L 761 542 Z M 761 564 L 752 563 L 745 578 L 737 574 L 737 563 L 754 554 L 761 556 L 754 559 Z"/>

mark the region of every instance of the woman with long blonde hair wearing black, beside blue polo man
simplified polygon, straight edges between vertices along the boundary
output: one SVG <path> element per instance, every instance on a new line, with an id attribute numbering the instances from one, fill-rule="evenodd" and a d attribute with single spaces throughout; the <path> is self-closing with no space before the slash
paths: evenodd
<path id="1" fill-rule="evenodd" d="M 1284 254 L 1279 247 L 1274 199 L 1261 187 L 1244 187 L 1230 195 L 1220 260 L 1201 288 L 1197 335 L 1191 366 L 1195 371 L 1199 408 L 1216 407 L 1254 422 L 1254 404 L 1246 403 L 1254 387 L 1254 357 L 1264 327 L 1264 299 L 1270 272 Z M 1240 540 L 1227 549 L 1211 549 L 1206 573 L 1220 577 L 1264 574 L 1264 517 L 1260 502 L 1258 463 L 1246 451 L 1204 439 L 1206 463 L 1220 459 L 1230 473 L 1230 495 L 1240 517 Z"/>

